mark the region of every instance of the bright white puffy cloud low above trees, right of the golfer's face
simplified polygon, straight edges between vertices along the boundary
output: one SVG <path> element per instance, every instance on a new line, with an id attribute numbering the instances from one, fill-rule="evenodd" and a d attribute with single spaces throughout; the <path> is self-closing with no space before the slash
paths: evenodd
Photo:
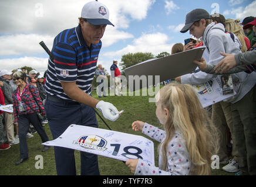
<path id="1" fill-rule="evenodd" d="M 157 55 L 163 51 L 170 52 L 171 44 L 168 44 L 169 37 L 164 33 L 151 33 L 151 34 L 142 34 L 137 39 L 134 39 L 132 44 L 127 45 L 121 50 L 118 51 L 110 51 L 103 53 L 103 56 L 107 57 L 117 57 L 121 58 L 123 54 L 127 53 L 153 53 Z"/>

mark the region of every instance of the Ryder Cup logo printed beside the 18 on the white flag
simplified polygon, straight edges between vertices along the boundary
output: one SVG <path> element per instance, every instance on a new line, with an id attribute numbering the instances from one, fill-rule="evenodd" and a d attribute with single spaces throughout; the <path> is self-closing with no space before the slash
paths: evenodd
<path id="1" fill-rule="evenodd" d="M 107 149 L 105 148 L 107 141 L 97 135 L 81 136 L 78 141 L 73 141 L 73 144 L 92 150 L 105 151 Z"/>

